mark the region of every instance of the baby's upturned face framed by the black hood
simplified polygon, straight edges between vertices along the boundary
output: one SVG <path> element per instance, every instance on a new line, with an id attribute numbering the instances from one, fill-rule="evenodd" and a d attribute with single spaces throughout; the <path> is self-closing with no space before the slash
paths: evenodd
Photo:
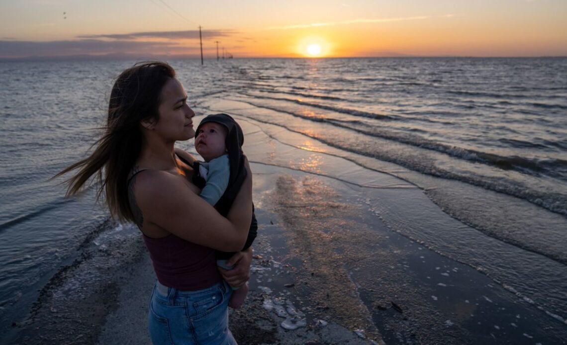
<path id="1" fill-rule="evenodd" d="M 204 123 L 195 138 L 195 149 L 205 161 L 220 157 L 226 154 L 226 134 L 225 126 L 216 122 Z"/>

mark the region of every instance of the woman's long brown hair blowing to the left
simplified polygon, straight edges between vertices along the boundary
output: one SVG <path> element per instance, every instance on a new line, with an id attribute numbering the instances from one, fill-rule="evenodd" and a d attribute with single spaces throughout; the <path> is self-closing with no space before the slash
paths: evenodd
<path id="1" fill-rule="evenodd" d="M 140 122 L 159 121 L 160 95 L 175 70 L 164 62 L 139 62 L 123 71 L 112 87 L 107 125 L 86 159 L 65 168 L 54 177 L 78 169 L 66 182 L 66 196 L 79 194 L 96 174 L 97 200 L 104 195 L 111 215 L 134 222 L 128 201 L 128 176 L 142 150 Z"/>

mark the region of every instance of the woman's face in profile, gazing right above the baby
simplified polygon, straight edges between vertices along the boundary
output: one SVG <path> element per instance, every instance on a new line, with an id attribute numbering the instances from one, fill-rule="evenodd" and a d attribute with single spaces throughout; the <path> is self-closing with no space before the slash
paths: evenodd
<path id="1" fill-rule="evenodd" d="M 188 140 L 195 136 L 195 113 L 187 104 L 187 93 L 177 79 L 170 79 L 162 88 L 159 120 L 154 130 L 167 141 Z"/>

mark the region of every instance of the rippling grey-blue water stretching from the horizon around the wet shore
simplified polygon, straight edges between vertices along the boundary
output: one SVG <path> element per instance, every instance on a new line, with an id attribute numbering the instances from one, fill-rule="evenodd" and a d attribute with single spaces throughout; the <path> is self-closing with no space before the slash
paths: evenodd
<path id="1" fill-rule="evenodd" d="M 487 272 L 564 322 L 567 277 L 553 272 L 567 266 L 567 59 L 171 63 L 198 114 L 223 110 L 266 130 L 303 134 L 314 141 L 274 136 L 417 186 L 425 201 L 406 205 L 430 200 L 435 210 L 424 207 L 413 219 L 403 206 L 369 207 L 395 231 Z M 79 257 L 86 241 L 115 238 L 98 235 L 116 225 L 94 202 L 94 188 L 67 200 L 61 180 L 48 178 L 84 156 L 104 122 L 112 79 L 130 65 L 0 63 L 0 330 L 25 316 L 37 290 Z M 219 99 L 222 109 L 214 105 Z M 475 232 L 436 229 L 435 220 L 447 215 Z M 455 249 L 462 241 L 469 251 Z"/>

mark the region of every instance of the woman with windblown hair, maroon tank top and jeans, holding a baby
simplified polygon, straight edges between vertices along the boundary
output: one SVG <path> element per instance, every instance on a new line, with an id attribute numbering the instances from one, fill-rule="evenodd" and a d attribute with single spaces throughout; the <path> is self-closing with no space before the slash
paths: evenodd
<path id="1" fill-rule="evenodd" d="M 246 163 L 246 181 L 227 218 L 200 198 L 189 182 L 193 157 L 174 149 L 176 140 L 194 137 L 194 116 L 171 66 L 137 63 L 112 88 L 107 127 L 95 151 L 60 173 L 79 169 L 67 195 L 78 194 L 96 173 L 98 195 L 104 194 L 111 214 L 143 233 L 158 277 L 149 312 L 155 344 L 236 343 L 227 327 L 227 282 L 238 287 L 249 278 L 251 250 L 235 254 L 229 263 L 236 268 L 221 273 L 214 250 L 243 248 L 252 174 Z"/>

